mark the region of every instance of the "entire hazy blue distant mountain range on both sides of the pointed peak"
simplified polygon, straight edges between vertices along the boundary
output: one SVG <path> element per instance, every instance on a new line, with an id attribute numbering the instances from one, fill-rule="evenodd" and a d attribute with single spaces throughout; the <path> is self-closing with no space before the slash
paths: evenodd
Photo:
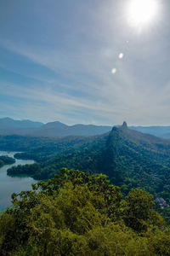
<path id="1" fill-rule="evenodd" d="M 117 125 L 119 126 L 119 125 Z M 111 131 L 109 125 L 65 125 L 59 121 L 43 124 L 31 120 L 0 119 L 0 135 L 30 137 L 95 136 Z M 170 126 L 129 126 L 130 129 L 156 137 L 170 138 Z"/>

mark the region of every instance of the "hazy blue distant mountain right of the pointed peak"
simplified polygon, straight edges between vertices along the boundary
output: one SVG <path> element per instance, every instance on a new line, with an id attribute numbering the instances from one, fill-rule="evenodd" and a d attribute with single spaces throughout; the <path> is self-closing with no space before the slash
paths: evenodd
<path id="1" fill-rule="evenodd" d="M 170 138 L 170 126 L 130 126 L 135 131 L 149 133 L 156 137 Z"/>

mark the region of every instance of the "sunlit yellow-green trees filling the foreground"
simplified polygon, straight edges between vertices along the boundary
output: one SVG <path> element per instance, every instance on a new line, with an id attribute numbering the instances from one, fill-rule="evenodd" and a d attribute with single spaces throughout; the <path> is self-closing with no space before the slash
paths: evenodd
<path id="1" fill-rule="evenodd" d="M 142 189 L 124 196 L 105 175 L 67 169 L 32 189 L 1 215 L 1 255 L 170 255 L 169 227 Z"/>

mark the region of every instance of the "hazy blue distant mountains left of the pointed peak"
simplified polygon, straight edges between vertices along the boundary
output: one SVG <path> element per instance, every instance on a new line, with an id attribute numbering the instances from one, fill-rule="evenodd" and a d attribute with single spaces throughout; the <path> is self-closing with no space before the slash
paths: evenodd
<path id="1" fill-rule="evenodd" d="M 111 131 L 111 126 L 65 125 L 59 121 L 42 124 L 31 120 L 0 119 L 0 135 L 31 137 L 94 136 Z"/>

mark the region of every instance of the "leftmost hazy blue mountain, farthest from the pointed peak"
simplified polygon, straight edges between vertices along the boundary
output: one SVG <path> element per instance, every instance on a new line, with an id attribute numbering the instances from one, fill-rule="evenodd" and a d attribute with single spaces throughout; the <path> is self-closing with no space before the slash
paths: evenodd
<path id="1" fill-rule="evenodd" d="M 36 131 L 43 124 L 31 120 L 14 120 L 10 118 L 0 119 L 1 135 L 26 135 Z"/>

